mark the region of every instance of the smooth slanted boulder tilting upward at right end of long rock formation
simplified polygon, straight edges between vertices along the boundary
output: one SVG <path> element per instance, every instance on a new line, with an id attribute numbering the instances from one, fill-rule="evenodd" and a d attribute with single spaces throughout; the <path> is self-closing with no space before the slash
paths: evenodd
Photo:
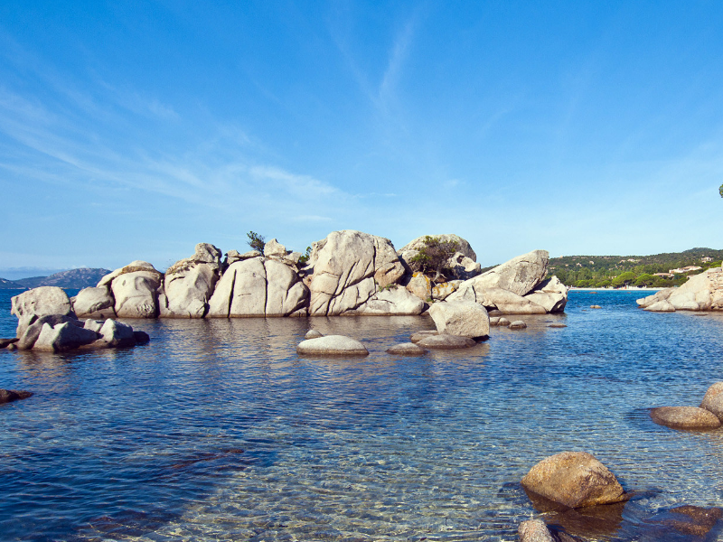
<path id="1" fill-rule="evenodd" d="M 526 295 L 543 281 L 548 272 L 548 262 L 547 250 L 533 250 L 465 281 L 458 292 L 470 288 L 476 292 L 485 288 L 501 288 L 513 294 Z"/>

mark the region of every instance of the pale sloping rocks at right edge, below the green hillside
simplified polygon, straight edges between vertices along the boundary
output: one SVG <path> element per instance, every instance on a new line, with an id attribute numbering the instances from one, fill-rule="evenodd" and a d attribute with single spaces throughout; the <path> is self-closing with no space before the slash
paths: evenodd
<path id="1" fill-rule="evenodd" d="M 723 311 L 723 268 L 713 267 L 691 276 L 684 285 L 660 290 L 638 299 L 637 304 L 655 313 Z"/>

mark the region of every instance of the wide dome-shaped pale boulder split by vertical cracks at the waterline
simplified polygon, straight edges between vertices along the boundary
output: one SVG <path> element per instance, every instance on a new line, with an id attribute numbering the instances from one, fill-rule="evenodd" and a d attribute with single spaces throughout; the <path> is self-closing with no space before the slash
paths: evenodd
<path id="1" fill-rule="evenodd" d="M 305 315 L 308 289 L 296 270 L 276 259 L 231 264 L 211 295 L 213 317 Z"/>

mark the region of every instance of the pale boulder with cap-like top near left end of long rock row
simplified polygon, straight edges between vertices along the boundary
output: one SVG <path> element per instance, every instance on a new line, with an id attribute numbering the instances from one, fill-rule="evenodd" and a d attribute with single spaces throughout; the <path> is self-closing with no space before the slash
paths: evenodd
<path id="1" fill-rule="evenodd" d="M 136 260 L 100 279 L 98 287 L 109 286 L 119 318 L 155 318 L 163 275 L 148 262 Z"/>

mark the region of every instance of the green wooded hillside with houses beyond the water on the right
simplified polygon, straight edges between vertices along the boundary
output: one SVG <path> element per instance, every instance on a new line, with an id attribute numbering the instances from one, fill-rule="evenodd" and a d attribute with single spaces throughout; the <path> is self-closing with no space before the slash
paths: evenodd
<path id="1" fill-rule="evenodd" d="M 711 258 L 712 261 L 705 261 Z M 688 276 L 720 266 L 723 250 L 690 248 L 652 256 L 563 256 L 549 258 L 549 276 L 556 275 L 568 286 L 581 288 L 624 285 L 669 287 L 681 285 Z M 655 276 L 671 269 L 700 266 L 702 269 L 672 277 Z"/>

